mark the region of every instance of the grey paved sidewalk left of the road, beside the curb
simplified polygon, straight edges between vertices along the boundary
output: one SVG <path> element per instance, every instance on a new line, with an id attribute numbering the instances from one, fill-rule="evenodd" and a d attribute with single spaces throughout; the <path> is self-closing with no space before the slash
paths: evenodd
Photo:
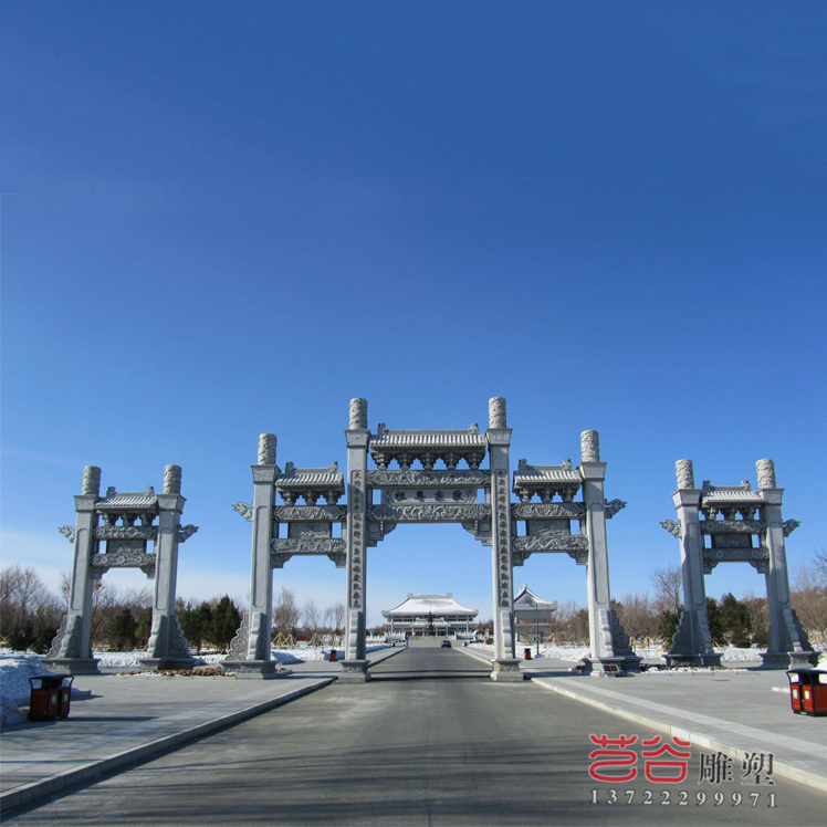
<path id="1" fill-rule="evenodd" d="M 371 663 L 401 649 L 370 652 Z M 275 709 L 331 684 L 338 663 L 308 661 L 284 678 L 239 682 L 231 677 L 169 678 L 153 673 L 77 676 L 69 718 L 27 721 L 2 732 L 0 809 L 86 783 L 216 730 Z"/>

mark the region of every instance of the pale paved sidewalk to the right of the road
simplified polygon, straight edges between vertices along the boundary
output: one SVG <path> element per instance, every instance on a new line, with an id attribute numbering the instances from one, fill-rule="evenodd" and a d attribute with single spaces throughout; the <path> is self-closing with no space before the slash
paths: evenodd
<path id="1" fill-rule="evenodd" d="M 460 651 L 491 660 L 491 653 L 479 648 Z M 520 668 L 540 687 L 691 741 L 701 750 L 737 761 L 747 753 L 772 753 L 776 775 L 827 791 L 827 716 L 793 712 L 783 669 L 746 661 L 712 672 L 593 678 L 570 671 L 573 667 L 570 661 L 542 658 L 524 660 Z"/>

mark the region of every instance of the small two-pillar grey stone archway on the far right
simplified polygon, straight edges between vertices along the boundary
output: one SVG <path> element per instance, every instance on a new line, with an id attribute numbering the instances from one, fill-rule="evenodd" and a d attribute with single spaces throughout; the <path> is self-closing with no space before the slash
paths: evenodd
<path id="1" fill-rule="evenodd" d="M 782 520 L 784 489 L 776 488 L 773 461 L 758 460 L 755 467 L 757 491 L 746 480 L 729 486 L 704 481 L 697 489 L 692 460 L 676 463 L 678 490 L 672 501 L 678 520 L 664 520 L 661 526 L 681 544 L 684 608 L 667 656 L 669 666 L 721 663 L 712 646 L 703 579 L 719 563 L 749 563 L 765 575 L 770 647 L 761 656 L 764 667 L 791 669 L 818 660 L 789 597 L 785 538 L 799 523 Z"/>

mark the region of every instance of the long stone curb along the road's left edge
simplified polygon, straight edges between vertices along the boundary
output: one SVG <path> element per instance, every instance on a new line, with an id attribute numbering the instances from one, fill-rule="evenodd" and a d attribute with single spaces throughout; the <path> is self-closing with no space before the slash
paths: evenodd
<path id="1" fill-rule="evenodd" d="M 64 770 L 62 773 L 55 773 L 54 775 L 30 782 L 29 784 L 21 784 L 19 787 L 14 787 L 13 789 L 0 794 L 0 812 L 2 812 L 3 815 L 7 815 L 8 810 L 14 807 L 20 807 L 23 804 L 31 804 L 39 798 L 44 798 L 48 795 L 57 793 L 74 784 L 94 781 L 113 770 L 124 766 L 125 764 L 133 764 L 137 761 L 155 755 L 156 753 L 164 752 L 171 746 L 180 746 L 193 739 L 209 735 L 217 730 L 241 723 L 249 718 L 260 715 L 262 712 L 269 712 L 276 706 L 294 701 L 296 698 L 302 698 L 311 692 L 315 692 L 317 689 L 327 687 L 333 683 L 334 680 L 334 678 L 323 678 L 317 680 L 315 683 L 312 683 L 310 687 L 302 687 L 301 689 L 296 689 L 287 694 L 279 695 L 279 698 L 271 698 L 268 701 L 247 706 L 242 710 L 237 710 L 235 712 L 231 712 L 228 715 L 217 718 L 212 721 L 190 726 L 188 730 L 181 730 L 171 735 L 156 739 L 147 744 L 133 746 L 123 752 L 115 753 L 115 755 L 111 755 L 108 758 L 88 761 L 83 766 Z"/>

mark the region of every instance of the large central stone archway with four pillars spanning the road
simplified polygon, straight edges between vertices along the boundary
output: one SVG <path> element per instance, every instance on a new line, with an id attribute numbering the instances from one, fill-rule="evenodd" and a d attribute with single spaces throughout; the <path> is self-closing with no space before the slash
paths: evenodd
<path id="1" fill-rule="evenodd" d="M 336 462 L 328 468 L 275 464 L 276 439 L 262 433 L 259 463 L 252 467 L 251 504 L 233 509 L 253 524 L 250 611 L 230 647 L 226 664 L 239 677 L 273 677 L 271 660 L 273 568 L 296 555 L 327 555 L 347 569 L 346 651 L 342 679 L 366 680 L 365 649 L 367 548 L 400 523 L 459 523 L 491 547 L 494 659 L 493 680 L 522 680 L 514 653 L 513 567 L 532 554 L 564 552 L 587 570 L 590 657 L 587 671 L 619 674 L 637 668 L 610 608 L 606 520 L 626 503 L 604 499 L 606 463 L 600 462 L 597 431 L 582 435 L 582 461 L 573 468 L 530 465 L 525 460 L 510 479 L 512 429 L 505 399 L 489 401 L 489 427 L 467 430 L 390 430 L 371 433 L 367 401 L 350 400 L 347 480 Z M 368 469 L 368 456 L 376 464 Z M 488 468 L 482 468 L 488 457 Z M 441 461 L 444 468 L 435 468 Z M 411 465 L 419 462 L 421 468 Z M 398 468 L 391 468 L 396 463 Z M 465 468 L 461 468 L 464 463 Z M 380 503 L 374 504 L 374 491 Z M 479 491 L 484 502 L 479 502 Z M 512 502 L 512 491 L 520 502 Z M 276 493 L 283 504 L 276 504 Z M 582 494 L 582 500 L 575 498 Z M 555 501 L 554 498 L 559 500 Z M 299 498 L 304 504 L 296 504 Z M 320 504 L 324 498 L 325 504 Z M 345 498 L 345 503 L 339 500 Z M 538 501 L 533 502 L 535 498 Z M 342 536 L 334 536 L 334 525 Z M 572 532 L 572 525 L 579 534 Z M 286 536 L 282 534 L 286 527 Z"/>

